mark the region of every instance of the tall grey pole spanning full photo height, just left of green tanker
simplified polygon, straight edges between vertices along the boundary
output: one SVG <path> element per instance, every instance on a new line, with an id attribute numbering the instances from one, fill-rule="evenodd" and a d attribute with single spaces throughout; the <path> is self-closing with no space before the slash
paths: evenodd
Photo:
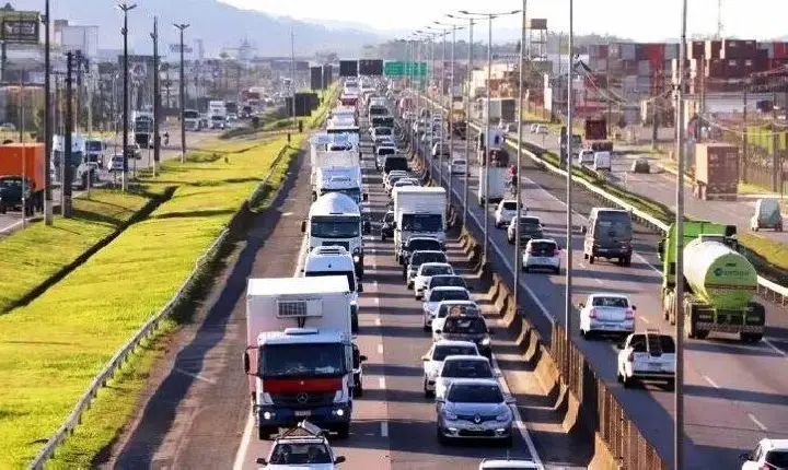
<path id="1" fill-rule="evenodd" d="M 675 365 L 675 421 L 673 422 L 673 466 L 684 463 L 684 60 L 686 54 L 687 0 L 682 1 L 681 42 L 679 43 L 679 91 L 676 92 L 676 216 L 675 216 L 675 302 L 676 365 Z M 746 93 L 746 92 L 745 92 Z M 746 128 L 746 127 L 745 127 Z M 667 248 L 669 249 L 669 248 Z"/>

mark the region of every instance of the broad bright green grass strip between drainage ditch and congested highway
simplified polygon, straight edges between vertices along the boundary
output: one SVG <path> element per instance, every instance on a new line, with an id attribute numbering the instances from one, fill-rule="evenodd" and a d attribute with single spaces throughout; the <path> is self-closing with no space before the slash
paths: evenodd
<path id="1" fill-rule="evenodd" d="M 285 139 L 215 158 L 167 162 L 152 191 L 173 197 L 28 306 L 0 317 L 0 468 L 25 466 L 107 360 L 177 292 L 241 202 L 268 174 Z M 132 360 L 100 393 L 53 467 L 86 468 L 134 412 L 153 363 Z"/>

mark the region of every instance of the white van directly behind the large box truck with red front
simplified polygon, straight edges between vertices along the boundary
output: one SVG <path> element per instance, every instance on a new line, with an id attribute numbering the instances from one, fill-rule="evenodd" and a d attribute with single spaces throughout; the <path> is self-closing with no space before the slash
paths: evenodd
<path id="1" fill-rule="evenodd" d="M 304 278 L 324 275 L 344 275 L 350 286 L 350 329 L 358 332 L 358 294 L 363 292 L 363 284 L 356 275 L 354 259 L 350 252 L 340 246 L 318 246 L 312 249 L 304 260 Z"/>

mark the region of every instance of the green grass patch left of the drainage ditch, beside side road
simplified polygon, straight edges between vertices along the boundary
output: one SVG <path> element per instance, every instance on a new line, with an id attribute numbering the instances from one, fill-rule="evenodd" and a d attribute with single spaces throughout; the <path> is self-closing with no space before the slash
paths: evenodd
<path id="1" fill-rule="evenodd" d="M 53 226 L 33 223 L 0 240 L 0 312 L 120 230 L 150 198 L 94 189 L 73 200 L 73 218 L 54 218 Z"/>

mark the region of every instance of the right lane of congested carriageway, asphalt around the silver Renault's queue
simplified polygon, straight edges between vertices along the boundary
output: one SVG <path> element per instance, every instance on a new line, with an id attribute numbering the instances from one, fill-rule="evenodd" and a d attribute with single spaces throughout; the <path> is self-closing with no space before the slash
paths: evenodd
<path id="1" fill-rule="evenodd" d="M 389 198 L 380 189 L 382 181 L 371 184 L 370 205 L 373 220 L 383 215 Z M 506 449 L 494 443 L 462 443 L 442 446 L 436 437 L 436 406 L 424 397 L 424 368 L 420 361 L 430 345 L 430 336 L 424 331 L 421 303 L 414 299 L 413 291 L 405 287 L 402 267 L 394 260 L 391 240 L 372 244 L 379 255 L 379 289 L 383 330 L 386 401 L 389 403 L 390 446 L 392 466 L 396 468 L 459 468 L 475 469 L 483 458 L 501 457 Z M 456 243 L 449 244 L 450 262 L 460 267 Z M 510 455 L 529 457 L 526 444 L 515 436 Z"/>

